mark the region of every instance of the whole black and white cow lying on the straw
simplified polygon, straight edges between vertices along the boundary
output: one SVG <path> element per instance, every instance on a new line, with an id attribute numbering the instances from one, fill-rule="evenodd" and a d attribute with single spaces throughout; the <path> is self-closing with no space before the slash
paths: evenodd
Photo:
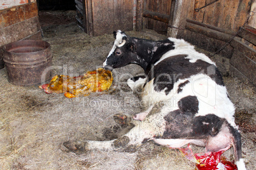
<path id="1" fill-rule="evenodd" d="M 132 77 L 127 84 L 134 91 L 143 84 L 141 99 L 148 109 L 134 115 L 141 122 L 116 140 L 86 141 L 80 147 L 70 142 L 65 145 L 73 150 L 115 150 L 153 140 L 171 148 L 193 143 L 205 147 L 206 152 L 232 146 L 238 169 L 245 169 L 235 108 L 215 63 L 182 39 L 150 41 L 129 37 L 120 30 L 114 36 L 103 67 L 140 65 L 146 76 Z"/>

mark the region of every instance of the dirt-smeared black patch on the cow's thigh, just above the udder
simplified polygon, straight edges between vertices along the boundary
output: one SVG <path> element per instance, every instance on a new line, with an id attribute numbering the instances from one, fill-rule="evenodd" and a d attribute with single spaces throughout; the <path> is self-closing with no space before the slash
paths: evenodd
<path id="1" fill-rule="evenodd" d="M 194 117 L 192 112 L 180 109 L 170 112 L 164 117 L 166 129 L 159 138 L 164 139 L 205 139 L 219 133 L 225 119 L 214 114 Z"/>

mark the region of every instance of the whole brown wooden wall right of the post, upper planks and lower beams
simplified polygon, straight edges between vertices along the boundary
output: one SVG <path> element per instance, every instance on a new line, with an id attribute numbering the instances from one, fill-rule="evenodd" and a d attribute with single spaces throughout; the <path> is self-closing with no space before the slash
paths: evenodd
<path id="1" fill-rule="evenodd" d="M 246 23 L 238 32 L 249 17 L 253 1 L 220 0 L 198 12 L 195 11 L 196 8 L 210 2 L 209 0 L 187 1 L 188 13 L 180 22 L 181 27 L 176 37 L 213 53 L 222 49 L 217 55 L 229 61 L 229 66 L 226 68 L 229 69 L 229 74 L 256 86 L 256 28 Z M 217 65 L 222 64 L 217 63 Z"/>

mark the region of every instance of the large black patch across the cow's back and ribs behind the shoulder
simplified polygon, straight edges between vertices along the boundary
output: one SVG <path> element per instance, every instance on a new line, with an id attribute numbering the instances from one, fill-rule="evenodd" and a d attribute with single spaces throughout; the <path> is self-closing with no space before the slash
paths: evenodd
<path id="1" fill-rule="evenodd" d="M 194 63 L 189 62 L 187 55 L 170 56 L 155 65 L 148 72 L 148 82 L 154 79 L 155 91 L 165 89 L 166 95 L 173 89 L 173 84 L 179 79 L 187 79 L 191 75 L 206 74 L 217 84 L 224 86 L 222 76 L 215 65 L 203 60 Z"/>

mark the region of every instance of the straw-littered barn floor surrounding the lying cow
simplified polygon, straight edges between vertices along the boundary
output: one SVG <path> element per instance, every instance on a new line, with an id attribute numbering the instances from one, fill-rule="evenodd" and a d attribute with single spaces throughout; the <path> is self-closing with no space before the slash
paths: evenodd
<path id="1" fill-rule="evenodd" d="M 75 11 L 41 11 L 43 40 L 50 42 L 53 74 L 81 75 L 100 67 L 113 43 L 112 35 L 90 37 L 76 25 Z M 47 19 L 47 17 L 55 18 Z M 58 17 L 59 16 L 59 17 Z M 45 18 L 44 18 L 45 17 Z M 61 22 L 61 20 L 64 22 Z M 54 19 L 54 20 L 53 20 Z M 160 39 L 151 30 L 128 32 L 131 36 Z M 228 75 L 229 65 L 215 56 Z M 226 60 L 225 60 L 226 61 Z M 114 93 L 95 93 L 80 98 L 62 94 L 46 95 L 38 86 L 14 86 L 0 70 L 0 168 L 1 169 L 195 169 L 179 150 L 145 143 L 134 153 L 91 150 L 85 154 L 68 152 L 67 140 L 106 140 L 104 130 L 115 125 L 113 115 L 140 112 L 138 98 L 125 84 L 126 79 L 142 72 L 138 65 L 113 70 Z M 224 77 L 236 105 L 236 123 L 243 143 L 247 169 L 255 169 L 255 91 L 250 84 Z M 196 153 L 203 148 L 192 145 Z M 232 148 L 225 152 L 234 160 Z"/>

